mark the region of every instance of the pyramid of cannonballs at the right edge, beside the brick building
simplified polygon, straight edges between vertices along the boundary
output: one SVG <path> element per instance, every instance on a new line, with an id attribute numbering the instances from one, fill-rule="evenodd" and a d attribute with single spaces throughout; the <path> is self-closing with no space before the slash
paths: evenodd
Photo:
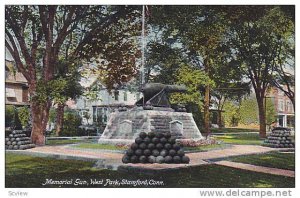
<path id="1" fill-rule="evenodd" d="M 265 146 L 274 148 L 294 148 L 292 142 L 291 130 L 288 128 L 277 127 L 272 130 L 272 133 L 265 139 Z"/>

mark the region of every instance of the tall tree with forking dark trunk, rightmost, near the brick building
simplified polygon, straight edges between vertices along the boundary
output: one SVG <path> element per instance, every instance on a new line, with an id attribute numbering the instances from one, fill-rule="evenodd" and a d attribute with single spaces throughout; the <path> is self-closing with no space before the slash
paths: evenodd
<path id="1" fill-rule="evenodd" d="M 294 24 L 278 6 L 227 7 L 233 52 L 251 80 L 259 111 L 260 137 L 266 137 L 264 97 L 278 63 L 284 59 L 283 46 Z M 255 13 L 255 14 L 254 14 Z"/>

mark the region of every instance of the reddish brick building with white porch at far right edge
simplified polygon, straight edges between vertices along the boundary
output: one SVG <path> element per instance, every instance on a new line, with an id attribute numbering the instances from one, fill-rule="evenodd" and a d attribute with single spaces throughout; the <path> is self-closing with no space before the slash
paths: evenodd
<path id="1" fill-rule="evenodd" d="M 277 87 L 272 87 L 266 97 L 271 98 L 275 105 L 277 112 L 277 123 L 275 123 L 275 126 L 294 128 L 295 112 L 293 103 L 284 92 Z"/>

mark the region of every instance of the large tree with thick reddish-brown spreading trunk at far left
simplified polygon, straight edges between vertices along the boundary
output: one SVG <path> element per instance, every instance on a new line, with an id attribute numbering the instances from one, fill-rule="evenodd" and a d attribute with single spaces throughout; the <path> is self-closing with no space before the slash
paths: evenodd
<path id="1" fill-rule="evenodd" d="M 5 47 L 28 81 L 33 143 L 45 142 L 44 131 L 52 103 L 50 84 L 69 35 L 76 34 L 78 41 L 69 55 L 74 59 L 88 59 L 105 49 L 110 42 L 107 34 L 115 23 L 124 19 L 137 21 L 136 9 L 134 6 L 5 7 Z"/>

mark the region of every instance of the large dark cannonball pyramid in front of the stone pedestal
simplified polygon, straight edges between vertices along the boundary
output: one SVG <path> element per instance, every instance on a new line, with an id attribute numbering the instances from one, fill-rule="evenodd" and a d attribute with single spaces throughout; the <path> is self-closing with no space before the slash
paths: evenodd
<path id="1" fill-rule="evenodd" d="M 140 133 L 122 158 L 123 163 L 186 163 L 190 162 L 171 133 Z"/>

